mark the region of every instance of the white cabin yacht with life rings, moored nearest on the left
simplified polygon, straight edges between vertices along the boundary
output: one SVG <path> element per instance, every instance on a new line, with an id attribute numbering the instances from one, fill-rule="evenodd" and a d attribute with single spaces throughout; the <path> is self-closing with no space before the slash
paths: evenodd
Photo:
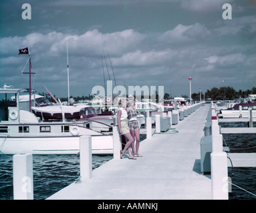
<path id="1" fill-rule="evenodd" d="M 92 130 L 92 120 L 43 121 L 22 107 L 22 93 L 29 89 L 0 89 L 0 154 L 77 154 L 82 135 L 92 135 L 92 154 L 113 153 L 112 132 Z"/>

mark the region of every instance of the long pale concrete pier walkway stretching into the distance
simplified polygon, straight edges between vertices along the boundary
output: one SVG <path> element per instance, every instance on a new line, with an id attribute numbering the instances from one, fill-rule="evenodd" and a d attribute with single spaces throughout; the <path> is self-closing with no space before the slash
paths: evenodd
<path id="1" fill-rule="evenodd" d="M 212 199 L 211 175 L 201 174 L 200 142 L 210 105 L 178 124 L 178 132 L 154 134 L 140 143 L 142 158 L 110 160 L 47 199 Z"/>

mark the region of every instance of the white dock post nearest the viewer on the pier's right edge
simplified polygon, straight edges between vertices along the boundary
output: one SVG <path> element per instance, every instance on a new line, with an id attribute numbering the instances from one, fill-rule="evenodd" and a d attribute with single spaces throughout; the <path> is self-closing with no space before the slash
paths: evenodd
<path id="1" fill-rule="evenodd" d="M 229 199 L 227 153 L 211 152 L 211 180 L 213 200 Z"/>

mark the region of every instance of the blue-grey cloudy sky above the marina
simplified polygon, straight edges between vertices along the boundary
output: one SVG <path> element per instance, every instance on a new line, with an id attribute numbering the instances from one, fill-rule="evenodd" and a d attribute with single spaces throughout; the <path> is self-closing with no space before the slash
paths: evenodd
<path id="1" fill-rule="evenodd" d="M 104 87 L 104 75 L 115 86 L 112 67 L 116 85 L 164 86 L 176 97 L 189 95 L 190 76 L 193 93 L 256 87 L 253 0 L 0 0 L 0 19 L 1 87 L 29 87 L 28 56 L 18 55 L 29 47 L 33 88 L 68 97 L 66 41 L 74 97 Z"/>

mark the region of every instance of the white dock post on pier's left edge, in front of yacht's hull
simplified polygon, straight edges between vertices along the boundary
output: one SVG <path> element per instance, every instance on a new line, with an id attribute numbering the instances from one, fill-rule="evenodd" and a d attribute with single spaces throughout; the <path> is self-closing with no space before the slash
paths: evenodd
<path id="1" fill-rule="evenodd" d="M 80 136 L 80 180 L 92 178 L 92 136 Z"/>

